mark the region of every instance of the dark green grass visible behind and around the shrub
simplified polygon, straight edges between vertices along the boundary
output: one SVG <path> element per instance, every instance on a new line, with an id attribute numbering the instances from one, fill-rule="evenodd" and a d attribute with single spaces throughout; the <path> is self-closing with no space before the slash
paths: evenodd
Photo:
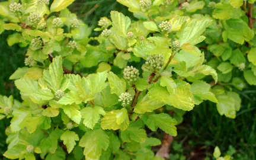
<path id="1" fill-rule="evenodd" d="M 75 1 L 69 9 L 75 12 L 81 20 L 89 26 L 97 26 L 100 17 L 110 17 L 110 11 L 116 10 L 132 18 L 132 13 L 115 0 L 101 1 Z M 203 11 L 204 12 L 204 11 Z M 207 12 L 207 11 L 205 11 Z M 256 14 L 255 14 L 256 15 Z M 13 95 L 21 100 L 14 81 L 9 76 L 24 66 L 25 48 L 18 44 L 9 47 L 7 37 L 12 31 L 5 31 L 0 36 L 0 94 Z M 100 32 L 92 32 L 92 36 L 98 36 Z M 200 45 L 200 44 L 199 44 Z M 203 44 L 201 44 L 203 46 Z M 206 58 L 213 55 L 207 50 Z M 242 73 L 233 70 L 233 75 L 242 77 Z M 234 159 L 256 159 L 256 87 L 247 86 L 242 91 L 234 90 L 241 95 L 241 110 L 236 113 L 235 119 L 220 116 L 216 110 L 216 104 L 207 101 L 197 105 L 192 111 L 187 112 L 182 124 L 178 125 L 178 136 L 174 138 L 171 146 L 171 159 L 179 159 L 183 155 L 186 159 L 201 159 L 212 156 L 215 146 L 219 146 L 222 153 L 235 148 Z M 5 127 L 9 126 L 9 119 L 0 121 L 0 159 L 6 159 L 1 155 L 7 150 L 5 144 Z M 156 133 L 161 139 L 161 132 Z"/>

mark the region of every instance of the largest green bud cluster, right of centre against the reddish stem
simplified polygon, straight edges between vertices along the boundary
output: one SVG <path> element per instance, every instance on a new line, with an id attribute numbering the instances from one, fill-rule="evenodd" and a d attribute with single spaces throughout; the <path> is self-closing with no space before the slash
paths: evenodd
<path id="1" fill-rule="evenodd" d="M 164 65 L 163 55 L 157 54 L 147 57 L 146 66 L 152 71 L 158 71 Z"/>

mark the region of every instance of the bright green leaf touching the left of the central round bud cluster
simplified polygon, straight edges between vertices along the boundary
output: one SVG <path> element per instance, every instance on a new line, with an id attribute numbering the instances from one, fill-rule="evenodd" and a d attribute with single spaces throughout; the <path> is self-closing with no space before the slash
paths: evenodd
<path id="1" fill-rule="evenodd" d="M 111 94 L 117 94 L 119 96 L 121 93 L 126 92 L 126 81 L 123 78 L 120 79 L 113 72 L 109 72 L 107 79 L 110 84 Z"/>

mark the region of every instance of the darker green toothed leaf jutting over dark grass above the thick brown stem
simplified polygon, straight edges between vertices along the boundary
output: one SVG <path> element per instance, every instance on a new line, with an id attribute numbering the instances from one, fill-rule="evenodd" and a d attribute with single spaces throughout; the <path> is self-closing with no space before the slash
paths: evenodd
<path id="1" fill-rule="evenodd" d="M 177 121 L 166 113 L 151 114 L 144 122 L 153 131 L 160 128 L 169 135 L 177 136 L 177 128 L 174 126 Z"/>

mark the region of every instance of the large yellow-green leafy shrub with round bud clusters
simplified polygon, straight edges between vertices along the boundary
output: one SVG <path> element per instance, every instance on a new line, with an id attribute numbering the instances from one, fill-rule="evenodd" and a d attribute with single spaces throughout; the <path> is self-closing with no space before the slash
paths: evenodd
<path id="1" fill-rule="evenodd" d="M 151 151 L 161 141 L 147 132 L 176 136 L 184 112 L 203 100 L 235 118 L 241 100 L 231 86 L 244 82 L 225 84 L 233 68 L 255 84 L 254 31 L 239 3 L 118 0 L 137 20 L 111 11 L 94 29 L 100 36 L 89 37 L 92 28 L 67 9 L 72 2 L 0 5 L 4 29 L 17 31 L 9 46 L 27 48 L 26 67 L 10 77 L 23 101 L 0 97 L 1 119 L 12 118 L 9 159 L 161 159 Z M 204 64 L 199 48 L 216 57 Z"/>

